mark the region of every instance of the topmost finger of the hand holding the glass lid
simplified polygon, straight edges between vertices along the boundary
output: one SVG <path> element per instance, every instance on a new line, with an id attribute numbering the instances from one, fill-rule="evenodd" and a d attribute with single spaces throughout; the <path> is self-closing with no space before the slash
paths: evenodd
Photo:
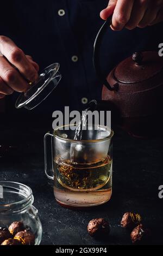
<path id="1" fill-rule="evenodd" d="M 1 36 L 0 51 L 27 80 L 33 82 L 38 78 L 38 74 L 33 65 L 28 61 L 23 51 L 19 49 L 12 40 Z"/>

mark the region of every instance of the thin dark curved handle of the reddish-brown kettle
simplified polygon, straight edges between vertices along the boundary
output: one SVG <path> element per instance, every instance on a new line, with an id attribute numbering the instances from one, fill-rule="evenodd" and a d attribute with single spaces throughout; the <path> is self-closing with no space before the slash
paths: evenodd
<path id="1" fill-rule="evenodd" d="M 103 84 L 110 90 L 113 91 L 115 88 L 111 87 L 109 85 L 109 82 L 103 78 L 102 72 L 101 72 L 101 67 L 100 67 L 100 62 L 99 62 L 99 53 L 100 53 L 100 46 L 101 46 L 101 41 L 103 38 L 103 35 L 105 34 L 106 30 L 108 29 L 108 27 L 111 26 L 112 23 L 112 15 L 111 17 L 108 18 L 108 20 L 106 20 L 103 24 L 103 26 L 101 27 L 101 29 L 99 29 L 99 32 L 97 34 L 97 37 L 95 39 L 95 43 L 94 43 L 94 47 L 93 47 L 93 65 L 96 71 L 96 74 L 99 78 L 99 80 L 101 82 L 103 82 Z"/>

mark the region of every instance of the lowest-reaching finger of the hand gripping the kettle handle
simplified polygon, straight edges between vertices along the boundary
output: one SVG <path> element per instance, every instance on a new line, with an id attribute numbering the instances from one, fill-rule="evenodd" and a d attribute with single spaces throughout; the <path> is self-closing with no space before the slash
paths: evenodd
<path id="1" fill-rule="evenodd" d="M 112 16 L 111 28 L 116 31 L 123 29 L 130 19 L 134 0 L 118 0 Z"/>

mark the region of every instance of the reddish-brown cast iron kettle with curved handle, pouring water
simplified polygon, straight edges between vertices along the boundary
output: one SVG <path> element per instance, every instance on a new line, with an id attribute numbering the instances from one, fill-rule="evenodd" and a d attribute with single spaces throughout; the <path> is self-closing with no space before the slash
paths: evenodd
<path id="1" fill-rule="evenodd" d="M 111 25 L 105 21 L 95 40 L 93 63 L 103 82 L 102 108 L 131 135 L 146 138 L 162 132 L 163 57 L 158 52 L 136 52 L 104 78 L 99 64 L 102 38 Z"/>

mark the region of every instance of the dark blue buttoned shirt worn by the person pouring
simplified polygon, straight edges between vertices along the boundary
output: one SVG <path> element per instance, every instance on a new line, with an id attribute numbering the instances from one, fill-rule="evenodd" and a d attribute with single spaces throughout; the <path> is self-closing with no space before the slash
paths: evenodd
<path id="1" fill-rule="evenodd" d="M 34 58 L 40 69 L 60 63 L 60 84 L 33 112 L 52 115 L 54 110 L 62 110 L 64 106 L 81 110 L 87 100 L 101 99 L 102 84 L 93 69 L 92 53 L 96 34 L 104 22 L 99 13 L 107 4 L 108 0 L 11 0 L 1 3 L 0 34 L 14 40 Z M 108 74 L 135 51 L 158 50 L 163 41 L 161 32 L 162 23 L 121 32 L 108 27 L 101 50 L 103 74 Z M 17 94 L 14 100 L 16 97 Z"/>

